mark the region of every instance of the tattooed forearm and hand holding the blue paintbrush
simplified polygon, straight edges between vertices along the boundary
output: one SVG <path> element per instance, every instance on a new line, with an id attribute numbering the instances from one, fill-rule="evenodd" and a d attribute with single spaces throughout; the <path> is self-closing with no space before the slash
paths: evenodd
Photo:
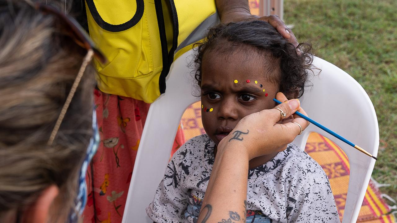
<path id="1" fill-rule="evenodd" d="M 285 102 L 277 109 L 247 115 L 218 144 L 198 222 L 218 222 L 227 216 L 233 222 L 245 222 L 249 160 L 285 150 L 309 125 L 294 115 L 296 111 L 306 115 L 299 100 L 287 100 L 282 93 L 276 98 Z"/>

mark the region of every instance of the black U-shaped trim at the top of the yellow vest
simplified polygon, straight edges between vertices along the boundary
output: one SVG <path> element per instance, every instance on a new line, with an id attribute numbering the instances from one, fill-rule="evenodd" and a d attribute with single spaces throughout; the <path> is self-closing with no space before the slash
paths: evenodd
<path id="1" fill-rule="evenodd" d="M 127 30 L 134 25 L 137 25 L 137 23 L 141 20 L 142 15 L 143 15 L 143 10 L 145 9 L 145 4 L 143 0 L 136 0 L 137 1 L 137 11 L 135 12 L 135 15 L 129 20 L 126 21 L 123 24 L 119 25 L 113 25 L 110 23 L 105 22 L 102 17 L 99 15 L 98 10 L 96 10 L 94 0 L 86 0 L 87 6 L 91 12 L 91 15 L 93 16 L 95 22 L 104 30 L 110 31 L 110 32 L 120 32 Z"/>

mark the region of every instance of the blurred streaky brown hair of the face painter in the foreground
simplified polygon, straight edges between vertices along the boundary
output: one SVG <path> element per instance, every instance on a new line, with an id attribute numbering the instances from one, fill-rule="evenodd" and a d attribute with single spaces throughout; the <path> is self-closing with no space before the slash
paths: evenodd
<path id="1" fill-rule="evenodd" d="M 57 213 L 50 216 L 50 222 L 68 221 L 67 216 L 75 209 L 78 172 L 93 134 L 94 70 L 87 67 L 57 137 L 48 146 L 50 133 L 87 53 L 64 35 L 56 19 L 24 1 L 0 0 L 3 220 L 12 210 L 23 211 L 50 185 L 60 189 L 54 205 Z"/>

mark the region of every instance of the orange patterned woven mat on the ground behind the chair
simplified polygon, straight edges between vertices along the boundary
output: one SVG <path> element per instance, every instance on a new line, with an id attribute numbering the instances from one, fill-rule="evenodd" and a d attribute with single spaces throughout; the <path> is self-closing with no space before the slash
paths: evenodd
<path id="1" fill-rule="evenodd" d="M 187 108 L 181 122 L 187 140 L 205 133 L 201 122 L 200 102 Z M 317 133 L 310 134 L 305 151 L 321 165 L 328 175 L 339 217 L 342 221 L 349 185 L 349 161 L 346 154 L 331 140 Z M 390 212 L 391 210 L 370 181 L 357 222 L 394 223 L 395 218 Z"/>

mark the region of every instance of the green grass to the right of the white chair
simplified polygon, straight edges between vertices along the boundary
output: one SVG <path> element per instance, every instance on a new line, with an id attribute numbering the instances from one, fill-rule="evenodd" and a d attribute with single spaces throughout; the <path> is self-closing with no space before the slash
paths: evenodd
<path id="1" fill-rule="evenodd" d="M 374 104 L 380 130 L 372 177 L 397 200 L 397 1 L 285 0 L 284 20 L 316 56 L 355 78 Z"/>

